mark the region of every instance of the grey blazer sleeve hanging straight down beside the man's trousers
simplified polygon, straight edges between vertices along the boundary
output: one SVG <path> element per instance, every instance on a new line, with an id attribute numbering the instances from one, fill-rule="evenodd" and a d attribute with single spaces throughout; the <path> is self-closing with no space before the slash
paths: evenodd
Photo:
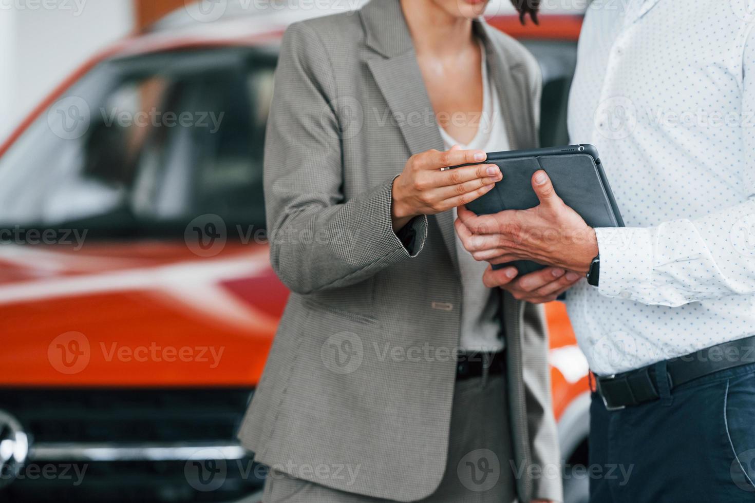
<path id="1" fill-rule="evenodd" d="M 541 305 L 525 302 L 522 327 L 522 375 L 525 386 L 532 465 L 532 498 L 563 501 L 561 453 L 550 391 L 548 332 Z"/>

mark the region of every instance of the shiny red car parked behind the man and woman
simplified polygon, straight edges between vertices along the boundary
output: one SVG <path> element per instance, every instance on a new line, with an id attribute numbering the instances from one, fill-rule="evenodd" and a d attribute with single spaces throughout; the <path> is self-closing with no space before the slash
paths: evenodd
<path id="1" fill-rule="evenodd" d="M 292 17 L 235 14 L 116 44 L 0 146 L 2 501 L 258 498 L 235 434 L 288 296 L 261 152 Z M 491 23 L 541 62 L 542 143 L 568 143 L 581 17 Z M 587 363 L 563 306 L 547 314 L 562 452 L 586 464 Z"/>

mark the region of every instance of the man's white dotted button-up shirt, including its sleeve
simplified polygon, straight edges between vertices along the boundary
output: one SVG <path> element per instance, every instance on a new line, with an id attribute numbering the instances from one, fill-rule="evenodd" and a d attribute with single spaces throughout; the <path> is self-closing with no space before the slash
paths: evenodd
<path id="1" fill-rule="evenodd" d="M 599 289 L 581 281 L 567 305 L 606 375 L 755 333 L 755 11 L 598 4 L 569 133 L 598 148 L 628 228 L 597 229 Z"/>

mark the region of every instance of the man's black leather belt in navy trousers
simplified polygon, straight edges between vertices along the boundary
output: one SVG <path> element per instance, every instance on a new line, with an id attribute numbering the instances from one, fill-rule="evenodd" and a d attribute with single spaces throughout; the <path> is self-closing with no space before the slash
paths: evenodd
<path id="1" fill-rule="evenodd" d="M 686 382 L 748 363 L 755 363 L 755 336 L 724 342 L 666 360 L 666 378 L 669 388 L 673 389 Z M 655 363 L 615 376 L 596 376 L 596 388 L 609 410 L 620 410 L 660 398 L 656 386 Z"/>

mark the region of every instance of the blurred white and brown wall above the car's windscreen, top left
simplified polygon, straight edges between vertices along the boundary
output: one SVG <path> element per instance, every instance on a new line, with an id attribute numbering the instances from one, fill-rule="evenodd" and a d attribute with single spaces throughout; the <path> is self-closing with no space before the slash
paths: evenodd
<path id="1" fill-rule="evenodd" d="M 0 142 L 89 57 L 184 0 L 0 0 Z"/>

